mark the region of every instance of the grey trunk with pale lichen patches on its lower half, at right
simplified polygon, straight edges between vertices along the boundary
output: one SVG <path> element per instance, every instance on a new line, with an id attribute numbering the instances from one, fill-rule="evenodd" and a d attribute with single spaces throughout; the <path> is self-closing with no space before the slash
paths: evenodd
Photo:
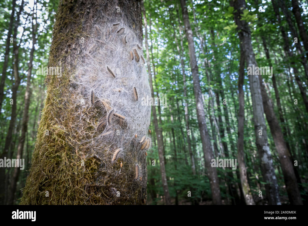
<path id="1" fill-rule="evenodd" d="M 231 0 L 230 4 L 234 7 L 234 10 L 236 10 L 233 12 L 234 21 L 238 26 L 238 34 L 242 48 L 244 49 L 246 65 L 247 67 L 252 67 L 253 65 L 257 66 L 251 44 L 250 28 L 247 22 L 241 20 L 240 16 L 243 10 L 246 9 L 246 2 L 245 0 L 236 0 L 234 2 L 233 0 Z M 281 202 L 278 192 L 278 183 L 274 171 L 273 159 L 270 153 L 270 146 L 267 140 L 264 108 L 259 77 L 255 75 L 249 75 L 249 85 L 253 103 L 253 121 L 255 127 L 256 145 L 259 152 L 259 157 L 261 159 L 263 180 L 266 182 L 266 196 L 269 200 L 269 204 L 280 205 Z"/>

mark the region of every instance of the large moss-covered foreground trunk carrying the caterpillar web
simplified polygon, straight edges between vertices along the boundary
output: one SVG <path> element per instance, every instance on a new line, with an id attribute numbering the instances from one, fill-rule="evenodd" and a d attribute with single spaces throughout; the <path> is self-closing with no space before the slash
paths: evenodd
<path id="1" fill-rule="evenodd" d="M 49 67 L 61 66 L 62 74 L 46 77 L 47 98 L 21 204 L 146 204 L 146 156 L 139 140 L 148 136 L 151 109 L 140 99 L 150 88 L 141 60 L 129 59 L 142 37 L 140 1 L 60 1 Z M 109 81 L 123 92 L 113 94 L 117 87 Z M 121 98 L 128 99 L 117 104 Z M 140 112 L 143 118 L 134 118 Z"/>

